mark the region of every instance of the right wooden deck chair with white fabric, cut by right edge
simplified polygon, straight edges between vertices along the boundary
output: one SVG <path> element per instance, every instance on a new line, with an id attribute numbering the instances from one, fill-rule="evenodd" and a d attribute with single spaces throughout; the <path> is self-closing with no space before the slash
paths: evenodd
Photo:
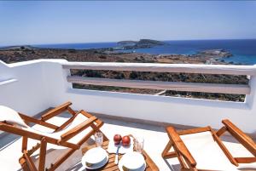
<path id="1" fill-rule="evenodd" d="M 162 152 L 162 157 L 164 159 L 177 157 L 182 171 L 236 170 L 239 163 L 256 162 L 256 144 L 253 140 L 229 120 L 223 120 L 222 123 L 224 127 L 217 132 L 211 127 L 179 132 L 175 128 L 167 127 L 170 140 Z M 233 157 L 219 138 L 226 131 L 238 140 L 252 157 Z M 171 149 L 173 151 L 170 151 Z"/>

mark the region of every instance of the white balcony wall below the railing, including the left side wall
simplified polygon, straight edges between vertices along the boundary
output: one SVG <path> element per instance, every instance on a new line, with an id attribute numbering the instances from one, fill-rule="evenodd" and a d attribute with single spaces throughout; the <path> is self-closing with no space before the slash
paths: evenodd
<path id="1" fill-rule="evenodd" d="M 73 89 L 67 83 L 69 71 L 61 67 L 65 62 L 35 60 L 8 66 L 0 64 L 0 80 L 7 75 L 18 80 L 0 86 L 0 105 L 33 115 L 70 100 L 76 110 L 189 126 L 220 128 L 221 120 L 229 118 L 245 132 L 256 132 L 255 77 L 251 78 L 251 93 L 245 103 L 197 100 Z"/>

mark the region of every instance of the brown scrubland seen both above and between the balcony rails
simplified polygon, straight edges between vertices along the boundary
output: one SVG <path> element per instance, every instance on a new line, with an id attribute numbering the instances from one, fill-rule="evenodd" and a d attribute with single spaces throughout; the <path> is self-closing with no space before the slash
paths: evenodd
<path id="1" fill-rule="evenodd" d="M 109 53 L 109 52 L 112 53 Z M 183 63 L 183 64 L 226 64 L 222 58 L 231 54 L 223 49 L 210 49 L 197 54 L 138 54 L 119 53 L 112 48 L 97 49 L 57 49 L 57 48 L 34 48 L 31 46 L 20 46 L 10 48 L 0 48 L 0 60 L 6 63 L 14 63 L 26 60 L 38 59 L 65 59 L 68 61 L 90 61 L 90 62 L 137 62 L 137 63 Z M 73 75 L 84 77 L 108 77 L 115 79 L 139 79 L 172 82 L 192 82 L 192 83 L 238 83 L 247 84 L 245 76 L 226 75 L 203 75 L 184 73 L 155 73 L 138 71 L 81 71 L 72 70 Z M 116 88 L 92 85 L 74 84 L 74 88 L 90 88 L 108 91 L 131 92 L 140 94 L 159 94 L 159 90 L 136 89 L 136 88 Z M 244 95 L 236 94 L 203 94 L 166 91 L 162 95 L 184 96 L 195 98 L 207 98 L 218 100 L 243 101 Z"/>

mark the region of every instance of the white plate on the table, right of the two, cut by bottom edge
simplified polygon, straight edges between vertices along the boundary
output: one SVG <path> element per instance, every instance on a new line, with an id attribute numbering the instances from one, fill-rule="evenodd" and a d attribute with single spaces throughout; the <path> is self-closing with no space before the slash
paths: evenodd
<path id="1" fill-rule="evenodd" d="M 123 166 L 132 171 L 143 171 L 146 168 L 144 157 L 139 152 L 128 152 L 119 161 L 119 170 L 123 170 Z"/>

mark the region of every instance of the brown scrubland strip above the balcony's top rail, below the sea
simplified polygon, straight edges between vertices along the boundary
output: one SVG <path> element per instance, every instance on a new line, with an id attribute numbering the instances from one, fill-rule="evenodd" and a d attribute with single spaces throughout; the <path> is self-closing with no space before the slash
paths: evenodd
<path id="1" fill-rule="evenodd" d="M 191 64 L 223 64 L 222 58 L 232 54 L 224 49 L 210 49 L 196 54 L 147 54 L 123 53 L 113 48 L 38 48 L 32 46 L 13 46 L 0 48 L 0 60 L 14 63 L 37 59 L 65 59 L 68 61 L 90 62 L 149 62 L 149 63 L 191 63 Z"/>

